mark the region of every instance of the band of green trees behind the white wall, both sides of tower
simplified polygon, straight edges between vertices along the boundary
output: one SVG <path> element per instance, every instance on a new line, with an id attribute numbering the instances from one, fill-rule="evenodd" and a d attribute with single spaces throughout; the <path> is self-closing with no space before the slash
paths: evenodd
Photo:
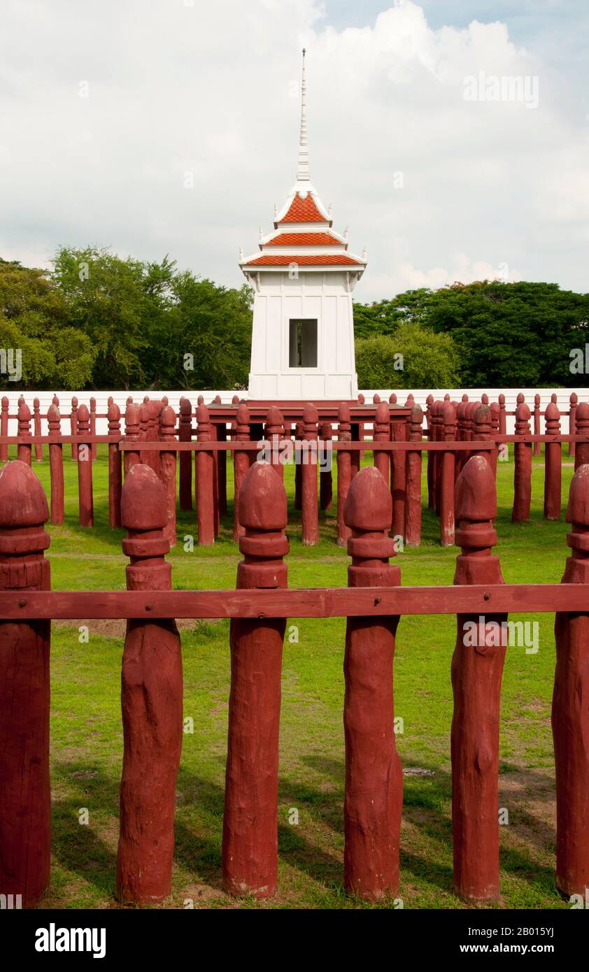
<path id="1" fill-rule="evenodd" d="M 354 304 L 362 388 L 586 385 L 589 295 L 557 284 L 456 283 Z M 247 386 L 252 292 L 168 256 L 60 247 L 52 270 L 0 260 L 0 348 L 20 349 L 2 388 Z M 574 349 L 579 349 L 574 355 Z"/>

